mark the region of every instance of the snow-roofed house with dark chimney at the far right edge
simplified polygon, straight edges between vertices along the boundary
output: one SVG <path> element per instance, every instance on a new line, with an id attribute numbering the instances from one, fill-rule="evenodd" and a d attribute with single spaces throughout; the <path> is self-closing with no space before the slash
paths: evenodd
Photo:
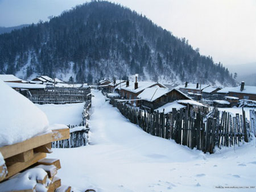
<path id="1" fill-rule="evenodd" d="M 245 82 L 241 82 L 240 86 L 225 87 L 224 89 L 217 91 L 217 93 L 224 96 L 256 101 L 256 86 L 246 86 Z"/>

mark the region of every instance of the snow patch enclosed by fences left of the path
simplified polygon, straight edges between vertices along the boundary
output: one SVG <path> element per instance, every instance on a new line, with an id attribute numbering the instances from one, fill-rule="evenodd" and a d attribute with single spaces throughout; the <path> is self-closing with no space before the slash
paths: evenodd
<path id="1" fill-rule="evenodd" d="M 38 106 L 47 115 L 49 124 L 71 124 L 78 126 L 79 123 L 82 122 L 84 103 L 64 105 L 46 104 L 36 106 Z"/>

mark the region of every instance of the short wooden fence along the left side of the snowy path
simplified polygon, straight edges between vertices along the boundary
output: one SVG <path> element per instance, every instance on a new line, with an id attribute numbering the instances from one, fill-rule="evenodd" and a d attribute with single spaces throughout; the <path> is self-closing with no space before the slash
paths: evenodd
<path id="1" fill-rule="evenodd" d="M 88 131 L 90 130 L 88 128 L 88 120 L 90 118 L 89 109 L 91 105 L 91 101 L 85 102 L 84 110 L 82 111 L 82 122 L 79 124 L 79 126 L 68 125 L 70 131 L 70 138 L 52 142 L 52 148 L 74 148 L 85 146 L 88 144 Z"/>

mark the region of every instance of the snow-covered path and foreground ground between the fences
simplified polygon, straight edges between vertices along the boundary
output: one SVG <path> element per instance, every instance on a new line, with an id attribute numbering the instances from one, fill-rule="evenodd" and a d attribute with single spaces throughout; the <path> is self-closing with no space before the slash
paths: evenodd
<path id="1" fill-rule="evenodd" d="M 213 155 L 155 137 L 93 91 L 90 145 L 53 149 L 58 176 L 78 191 L 255 191 L 255 140 Z M 63 123 L 63 122 L 62 122 Z M 228 187 L 253 187 L 236 188 Z"/>

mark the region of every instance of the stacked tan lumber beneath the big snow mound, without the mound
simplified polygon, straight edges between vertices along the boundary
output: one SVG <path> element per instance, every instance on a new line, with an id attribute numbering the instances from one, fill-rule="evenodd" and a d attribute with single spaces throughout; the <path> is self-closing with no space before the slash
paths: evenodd
<path id="1" fill-rule="evenodd" d="M 1 191 L 71 191 L 56 177 L 60 160 L 46 158 L 52 153 L 52 141 L 69 139 L 69 128 L 32 137 L 0 148 L 4 162 L 0 165 Z"/>

